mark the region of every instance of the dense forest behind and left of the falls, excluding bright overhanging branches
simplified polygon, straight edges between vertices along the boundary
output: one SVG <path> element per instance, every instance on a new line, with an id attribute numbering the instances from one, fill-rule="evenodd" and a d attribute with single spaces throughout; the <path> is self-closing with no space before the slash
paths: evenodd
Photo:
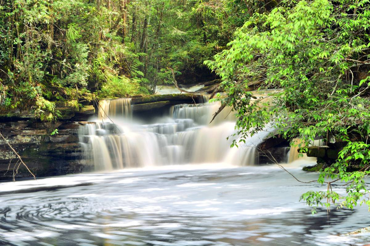
<path id="1" fill-rule="evenodd" d="M 42 117 L 53 112 L 50 101 L 81 91 L 151 94 L 172 83 L 169 68 L 179 82 L 205 80 L 211 73 L 203 61 L 265 7 L 238 0 L 1 0 L 1 106 L 33 107 Z"/>

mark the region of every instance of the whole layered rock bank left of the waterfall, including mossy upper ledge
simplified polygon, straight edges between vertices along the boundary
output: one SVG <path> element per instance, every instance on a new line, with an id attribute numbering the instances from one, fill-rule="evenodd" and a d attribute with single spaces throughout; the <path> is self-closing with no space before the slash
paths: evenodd
<path id="1" fill-rule="evenodd" d="M 86 93 L 87 94 L 87 93 Z M 36 177 L 80 173 L 92 166 L 80 160 L 78 128 L 95 114 L 93 94 L 71 101 L 57 101 L 57 121 L 42 122 L 31 112 L 0 116 L 0 132 Z M 88 100 L 88 102 L 86 101 Z M 58 129 L 58 133 L 51 133 Z M 0 139 L 0 180 L 32 177 L 7 143 Z"/>

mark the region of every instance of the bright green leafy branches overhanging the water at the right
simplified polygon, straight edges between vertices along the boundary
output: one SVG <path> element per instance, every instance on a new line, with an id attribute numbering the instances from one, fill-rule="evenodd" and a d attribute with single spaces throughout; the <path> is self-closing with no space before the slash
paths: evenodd
<path id="1" fill-rule="evenodd" d="M 282 1 L 270 13 L 253 14 L 229 49 L 205 62 L 222 79 L 227 96 L 219 100 L 237 112 L 241 138 L 272 120 L 279 134 L 303 140 L 301 152 L 317 137 L 346 145 L 320 172 L 318 181 L 328 184 L 327 191 L 302 195 L 308 205 L 339 202 L 353 208 L 360 201 L 370 208 L 364 199 L 370 167 L 369 3 Z M 254 100 L 248 91 L 252 85 L 274 89 L 267 92 L 269 100 Z M 334 181 L 347 182 L 345 195 L 332 191 Z"/>

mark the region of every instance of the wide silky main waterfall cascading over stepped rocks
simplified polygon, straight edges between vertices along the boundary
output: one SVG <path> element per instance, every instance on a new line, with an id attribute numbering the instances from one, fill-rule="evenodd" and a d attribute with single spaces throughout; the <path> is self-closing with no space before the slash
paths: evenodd
<path id="1" fill-rule="evenodd" d="M 129 98 L 101 101 L 98 118 L 79 129 L 85 158 L 96 170 L 217 162 L 253 165 L 254 147 L 269 134 L 260 132 L 239 148 L 230 148 L 233 138 L 226 138 L 235 133 L 231 109 L 225 108 L 209 124 L 220 103 L 174 105 L 167 116 L 143 124 L 131 119 L 129 102 Z M 101 120 L 108 116 L 114 124 Z"/>

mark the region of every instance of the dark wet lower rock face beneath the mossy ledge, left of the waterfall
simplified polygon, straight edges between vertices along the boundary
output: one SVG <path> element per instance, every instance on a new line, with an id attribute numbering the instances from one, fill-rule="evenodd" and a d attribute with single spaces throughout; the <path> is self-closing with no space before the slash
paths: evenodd
<path id="1" fill-rule="evenodd" d="M 92 166 L 80 160 L 79 126 L 79 122 L 33 119 L 1 122 L 0 131 L 36 177 L 43 177 L 92 170 Z M 55 128 L 59 134 L 51 136 Z M 16 179 L 31 177 L 6 142 L 0 143 L 0 180 L 13 179 L 13 170 Z"/>

